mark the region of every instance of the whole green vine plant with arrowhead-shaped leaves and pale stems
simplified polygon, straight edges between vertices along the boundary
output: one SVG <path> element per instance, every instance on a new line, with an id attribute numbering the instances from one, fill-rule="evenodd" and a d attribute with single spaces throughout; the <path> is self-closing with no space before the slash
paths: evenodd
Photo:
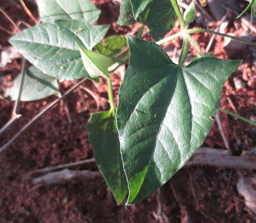
<path id="1" fill-rule="evenodd" d="M 182 16 L 176 0 L 122 0 L 117 24 L 139 22 L 137 36 L 104 40 L 109 26 L 93 25 L 100 11 L 89 0 L 73 0 L 72 7 L 66 0 L 37 4 L 42 23 L 10 40 L 33 64 L 21 100 L 58 95 L 57 80 L 107 79 L 110 110 L 92 114 L 87 130 L 97 165 L 118 204 L 127 193 L 127 205 L 149 196 L 188 161 L 214 122 L 224 83 L 241 64 L 204 55 L 191 34 L 207 32 L 256 46 L 238 37 L 188 29 L 195 17 L 194 1 Z M 181 31 L 164 38 L 176 17 Z M 141 39 L 145 25 L 154 41 Z M 161 48 L 175 38 L 183 40 L 178 64 Z M 198 54 L 183 66 L 189 44 Z M 128 61 L 115 108 L 110 73 Z M 13 100 L 19 78 L 6 93 Z"/>

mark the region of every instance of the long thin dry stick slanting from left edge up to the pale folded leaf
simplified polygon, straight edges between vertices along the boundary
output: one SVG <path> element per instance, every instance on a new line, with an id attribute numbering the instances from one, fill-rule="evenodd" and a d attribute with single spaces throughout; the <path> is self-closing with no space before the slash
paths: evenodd
<path id="1" fill-rule="evenodd" d="M 42 114 L 44 114 L 47 110 L 49 110 L 54 104 L 56 104 L 57 102 L 59 102 L 61 99 L 67 97 L 76 87 L 78 87 L 80 84 L 82 84 L 84 81 L 86 81 L 87 78 L 82 79 L 77 85 L 73 86 L 70 88 L 70 90 L 68 90 L 65 94 L 62 95 L 61 98 L 58 98 L 56 100 L 54 100 L 46 109 L 42 110 L 40 113 L 38 113 L 33 119 L 31 119 L 25 126 L 23 126 L 22 129 L 20 129 L 18 131 L 18 133 L 8 142 L 6 143 L 3 147 L 0 148 L 0 153 L 6 149 L 15 139 L 18 138 L 18 136 L 20 134 L 22 134 L 25 130 L 27 130 L 27 128 L 34 123 L 34 121 L 39 118 Z"/>

